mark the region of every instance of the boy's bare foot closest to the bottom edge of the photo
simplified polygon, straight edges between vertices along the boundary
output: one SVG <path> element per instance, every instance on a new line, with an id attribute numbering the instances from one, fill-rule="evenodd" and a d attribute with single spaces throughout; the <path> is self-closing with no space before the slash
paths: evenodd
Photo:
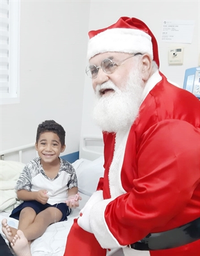
<path id="1" fill-rule="evenodd" d="M 17 256 L 31 256 L 31 249 L 22 230 L 17 230 L 10 244 Z"/>

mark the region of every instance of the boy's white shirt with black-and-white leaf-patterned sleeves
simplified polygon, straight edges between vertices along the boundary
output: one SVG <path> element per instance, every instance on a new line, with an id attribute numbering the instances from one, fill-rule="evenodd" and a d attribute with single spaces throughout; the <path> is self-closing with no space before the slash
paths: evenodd
<path id="1" fill-rule="evenodd" d="M 46 189 L 48 204 L 58 204 L 65 202 L 68 198 L 68 189 L 78 187 L 75 169 L 72 164 L 60 158 L 61 165 L 57 176 L 50 179 L 46 176 L 40 163 L 40 158 L 36 157 L 30 161 L 20 173 L 15 189 L 25 189 L 27 191 L 38 191 Z"/>

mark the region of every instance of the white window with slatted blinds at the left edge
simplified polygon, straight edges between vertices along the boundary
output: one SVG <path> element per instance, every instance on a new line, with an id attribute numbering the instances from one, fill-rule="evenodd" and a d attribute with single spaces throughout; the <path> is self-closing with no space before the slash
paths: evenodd
<path id="1" fill-rule="evenodd" d="M 0 3 L 0 103 L 19 102 L 20 1 Z"/>

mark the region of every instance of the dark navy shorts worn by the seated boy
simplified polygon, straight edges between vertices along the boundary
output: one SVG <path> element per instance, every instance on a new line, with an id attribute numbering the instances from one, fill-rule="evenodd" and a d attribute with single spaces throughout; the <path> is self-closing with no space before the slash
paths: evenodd
<path id="1" fill-rule="evenodd" d="M 32 201 L 24 201 L 22 204 L 18 205 L 15 209 L 13 209 L 13 211 L 10 214 L 10 218 L 14 218 L 18 220 L 20 216 L 20 212 L 25 207 L 31 207 L 32 209 L 34 209 L 36 214 L 38 214 L 41 211 L 44 211 L 48 207 L 55 207 L 62 212 L 62 218 L 60 221 L 68 220 L 68 216 L 71 213 L 71 209 L 65 203 L 50 205 L 50 204 L 41 204 L 38 201 L 32 200 Z"/>

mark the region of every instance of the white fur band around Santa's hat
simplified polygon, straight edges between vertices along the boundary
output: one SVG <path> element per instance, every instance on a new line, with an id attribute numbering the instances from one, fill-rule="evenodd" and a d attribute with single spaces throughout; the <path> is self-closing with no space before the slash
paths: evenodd
<path id="1" fill-rule="evenodd" d="M 152 38 L 139 29 L 112 28 L 90 38 L 87 58 L 103 52 L 148 53 L 153 59 Z"/>

